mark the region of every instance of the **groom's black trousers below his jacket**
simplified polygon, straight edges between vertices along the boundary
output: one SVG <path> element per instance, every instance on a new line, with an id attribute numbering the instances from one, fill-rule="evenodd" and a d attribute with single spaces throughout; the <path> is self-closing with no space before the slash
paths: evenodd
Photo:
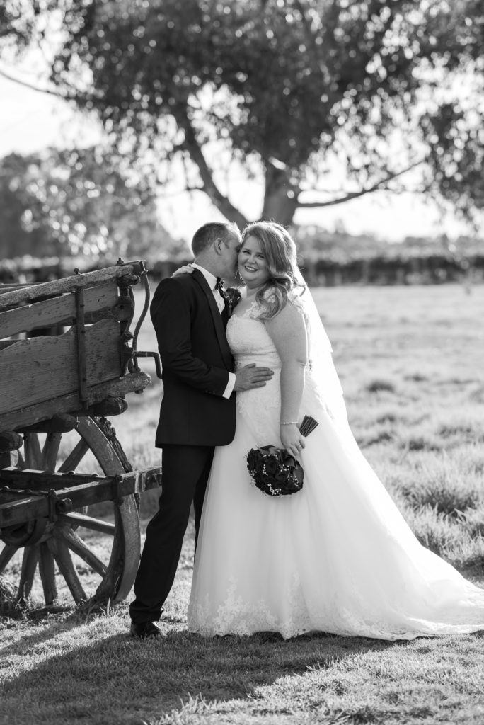
<path id="1" fill-rule="evenodd" d="M 146 541 L 130 605 L 135 624 L 158 621 L 170 593 L 190 517 L 195 509 L 195 545 L 199 535 L 214 447 L 164 446 L 159 510 L 146 527 Z"/>

